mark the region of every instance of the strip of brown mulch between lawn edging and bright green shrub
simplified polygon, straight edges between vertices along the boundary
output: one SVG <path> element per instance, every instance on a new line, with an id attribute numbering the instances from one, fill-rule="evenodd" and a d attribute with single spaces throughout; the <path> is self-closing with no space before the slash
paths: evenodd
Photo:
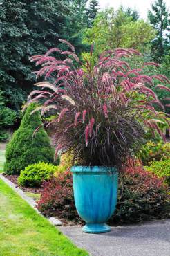
<path id="1" fill-rule="evenodd" d="M 23 190 L 24 192 L 30 192 L 30 193 L 34 193 L 34 194 L 41 194 L 44 191 L 44 188 L 42 188 L 42 187 L 39 187 L 39 188 L 28 188 L 28 187 L 23 187 L 23 186 L 19 185 L 17 183 L 17 179 L 18 179 L 19 175 L 3 174 L 3 176 L 6 177 L 6 179 L 11 181 L 12 183 L 14 183 L 16 185 L 16 187 L 21 188 L 21 190 Z"/>

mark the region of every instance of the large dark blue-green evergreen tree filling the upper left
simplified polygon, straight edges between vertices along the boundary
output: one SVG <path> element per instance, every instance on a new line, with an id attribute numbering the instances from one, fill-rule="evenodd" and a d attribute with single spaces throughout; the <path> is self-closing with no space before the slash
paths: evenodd
<path id="1" fill-rule="evenodd" d="M 0 89 L 8 107 L 19 110 L 35 82 L 28 57 L 58 47 L 59 38 L 82 47 L 73 23 L 68 0 L 1 1 Z"/>

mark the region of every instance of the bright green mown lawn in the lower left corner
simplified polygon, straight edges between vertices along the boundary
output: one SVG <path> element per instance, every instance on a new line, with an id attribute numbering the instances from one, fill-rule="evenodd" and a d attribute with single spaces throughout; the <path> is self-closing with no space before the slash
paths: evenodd
<path id="1" fill-rule="evenodd" d="M 88 253 L 74 246 L 0 179 L 0 255 L 85 256 Z"/>

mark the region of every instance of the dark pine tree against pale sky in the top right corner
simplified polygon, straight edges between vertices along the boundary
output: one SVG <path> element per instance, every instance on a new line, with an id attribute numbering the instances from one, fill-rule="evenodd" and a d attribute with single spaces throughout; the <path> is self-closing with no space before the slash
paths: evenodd
<path id="1" fill-rule="evenodd" d="M 170 13 L 164 0 L 156 0 L 148 12 L 148 18 L 157 36 L 151 45 L 151 53 L 155 62 L 161 62 L 170 49 Z"/>

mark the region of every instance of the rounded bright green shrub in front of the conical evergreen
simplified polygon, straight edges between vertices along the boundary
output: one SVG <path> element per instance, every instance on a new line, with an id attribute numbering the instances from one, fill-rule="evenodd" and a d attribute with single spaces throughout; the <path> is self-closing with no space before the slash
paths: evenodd
<path id="1" fill-rule="evenodd" d="M 26 187 L 37 187 L 43 181 L 50 179 L 55 170 L 56 166 L 44 162 L 28 165 L 25 170 L 21 171 L 18 182 Z"/>

